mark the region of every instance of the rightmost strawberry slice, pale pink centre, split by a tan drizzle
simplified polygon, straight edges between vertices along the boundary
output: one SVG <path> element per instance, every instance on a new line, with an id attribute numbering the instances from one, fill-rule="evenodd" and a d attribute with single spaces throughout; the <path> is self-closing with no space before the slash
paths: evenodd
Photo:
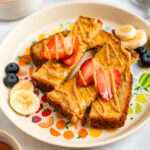
<path id="1" fill-rule="evenodd" d="M 120 85 L 121 75 L 117 69 L 113 69 L 113 77 L 115 81 L 115 87 L 118 89 Z M 105 73 L 105 75 L 104 75 Z M 102 69 L 96 70 L 96 83 L 97 83 L 97 90 L 105 101 L 109 101 L 113 97 L 112 92 L 112 84 L 111 84 L 111 78 L 110 73 L 108 70 L 102 71 Z"/>

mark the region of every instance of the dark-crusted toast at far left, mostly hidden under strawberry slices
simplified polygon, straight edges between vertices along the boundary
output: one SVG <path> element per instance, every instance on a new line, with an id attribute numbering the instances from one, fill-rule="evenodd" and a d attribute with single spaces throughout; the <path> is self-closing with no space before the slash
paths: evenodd
<path id="1" fill-rule="evenodd" d="M 64 36 L 67 36 L 69 33 L 69 31 L 63 31 L 62 34 Z M 52 35 L 53 36 L 53 35 Z M 34 64 L 36 65 L 36 67 L 41 67 L 42 64 L 44 64 L 47 60 L 42 59 L 40 57 L 42 50 L 44 49 L 44 43 L 48 43 L 49 40 L 52 38 L 52 36 L 49 36 L 48 38 L 45 38 L 35 44 L 33 44 L 30 48 L 30 56 L 34 62 Z"/>

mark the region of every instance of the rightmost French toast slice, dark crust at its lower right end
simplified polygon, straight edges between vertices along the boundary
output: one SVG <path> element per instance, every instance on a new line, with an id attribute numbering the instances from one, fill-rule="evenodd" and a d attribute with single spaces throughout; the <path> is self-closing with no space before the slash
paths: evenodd
<path id="1" fill-rule="evenodd" d="M 113 42 L 113 47 L 118 56 L 112 48 L 109 49 L 110 66 L 107 63 L 107 49 L 104 46 L 98 57 L 98 62 L 105 68 L 117 68 L 121 74 L 121 81 L 118 90 L 116 91 L 116 98 L 112 98 L 106 102 L 101 98 L 97 98 L 92 103 L 89 114 L 89 124 L 94 128 L 118 128 L 124 125 L 130 96 L 132 92 L 132 73 L 130 65 L 137 60 L 138 54 L 135 51 L 128 51 L 118 42 Z M 120 63 L 122 62 L 122 64 Z"/>

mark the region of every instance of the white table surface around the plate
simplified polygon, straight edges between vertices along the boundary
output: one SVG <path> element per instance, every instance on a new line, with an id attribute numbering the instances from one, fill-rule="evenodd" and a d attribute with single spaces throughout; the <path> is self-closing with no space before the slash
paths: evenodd
<path id="1" fill-rule="evenodd" d="M 61 2 L 68 2 L 69 0 L 44 0 L 43 4 L 39 9 L 49 7 L 50 5 L 58 4 Z M 93 0 L 94 1 L 94 0 Z M 131 3 L 132 0 L 95 0 L 103 3 L 109 3 L 118 7 L 127 9 L 133 13 L 143 16 L 146 19 L 146 7 L 135 6 Z M 150 6 L 149 6 L 150 7 Z M 5 35 L 13 29 L 21 20 L 17 21 L 0 21 L 0 42 L 3 40 Z M 16 128 L 0 110 L 0 129 L 5 130 L 12 134 L 21 144 L 23 150 L 59 150 L 65 149 L 55 147 L 49 144 L 42 143 Z M 145 125 L 138 132 L 133 135 L 104 147 L 93 148 L 93 150 L 150 150 L 150 123 Z"/>

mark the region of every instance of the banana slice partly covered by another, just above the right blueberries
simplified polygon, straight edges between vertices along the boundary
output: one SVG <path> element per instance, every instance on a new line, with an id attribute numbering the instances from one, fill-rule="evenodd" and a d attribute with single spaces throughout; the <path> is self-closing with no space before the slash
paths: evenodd
<path id="1" fill-rule="evenodd" d="M 136 35 L 126 41 L 121 41 L 121 43 L 128 49 L 136 49 L 140 46 L 143 46 L 147 43 L 147 35 L 144 30 L 137 30 Z"/>

